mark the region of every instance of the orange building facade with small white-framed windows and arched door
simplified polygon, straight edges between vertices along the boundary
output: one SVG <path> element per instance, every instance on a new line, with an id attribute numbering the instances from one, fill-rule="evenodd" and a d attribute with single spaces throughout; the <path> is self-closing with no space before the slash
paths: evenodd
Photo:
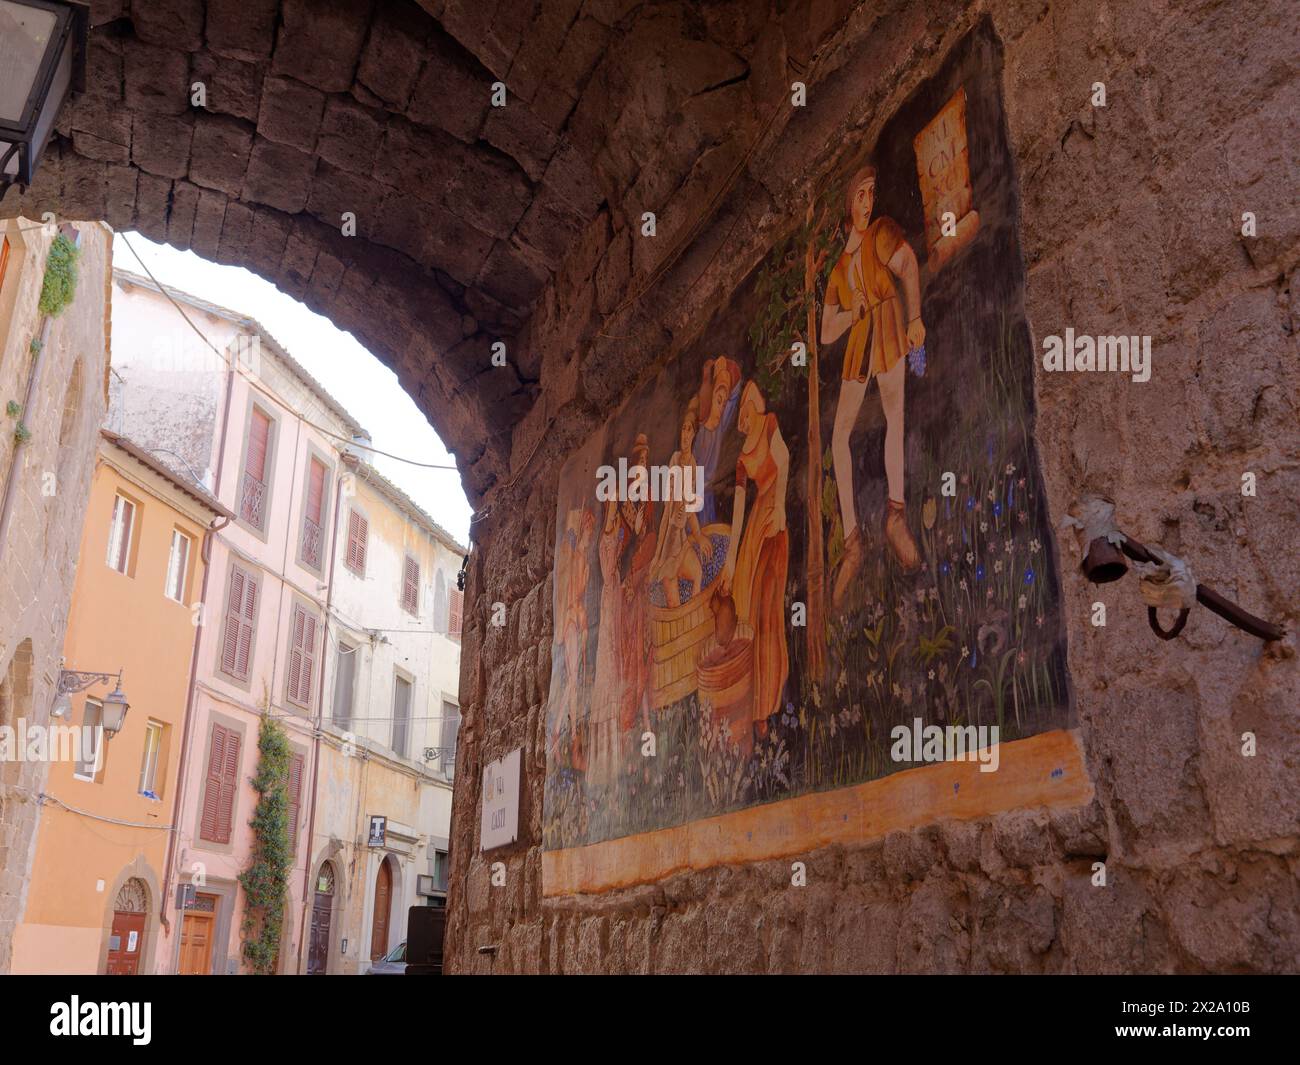
<path id="1" fill-rule="evenodd" d="M 160 896 L 177 824 L 205 538 L 230 518 L 199 485 L 101 433 L 64 670 L 113 676 L 72 693 L 70 707 L 49 722 L 68 732 L 65 743 L 49 743 L 14 973 L 155 971 L 162 922 L 177 915 Z M 130 709 L 108 736 L 99 726 L 118 671 Z"/>

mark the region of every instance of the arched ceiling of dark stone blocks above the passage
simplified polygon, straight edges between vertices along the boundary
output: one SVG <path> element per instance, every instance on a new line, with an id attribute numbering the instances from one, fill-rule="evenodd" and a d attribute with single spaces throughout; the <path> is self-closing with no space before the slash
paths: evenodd
<path id="1" fill-rule="evenodd" d="M 398 372 L 477 499 L 540 393 L 530 320 L 569 312 L 556 272 L 575 313 L 607 315 L 655 265 L 629 221 L 682 189 L 702 205 L 788 51 L 853 5 L 783 7 L 95 0 L 86 92 L 0 213 L 103 217 L 266 277 Z M 690 217 L 667 212 L 659 247 Z"/>

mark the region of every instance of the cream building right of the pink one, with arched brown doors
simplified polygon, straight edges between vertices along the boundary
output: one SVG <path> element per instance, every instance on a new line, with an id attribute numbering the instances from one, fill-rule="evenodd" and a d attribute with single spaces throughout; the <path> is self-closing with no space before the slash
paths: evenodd
<path id="1" fill-rule="evenodd" d="M 360 973 L 443 905 L 465 549 L 373 466 L 343 459 L 316 792 L 307 973 Z"/>

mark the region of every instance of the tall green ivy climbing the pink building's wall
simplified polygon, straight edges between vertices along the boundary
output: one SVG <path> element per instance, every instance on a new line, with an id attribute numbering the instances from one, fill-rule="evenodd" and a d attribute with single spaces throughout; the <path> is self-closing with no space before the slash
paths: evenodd
<path id="1" fill-rule="evenodd" d="M 294 858 L 289 844 L 289 736 L 269 715 L 257 730 L 257 753 L 252 787 L 261 797 L 248 822 L 254 834 L 252 860 L 239 874 L 248 896 L 243 954 L 254 973 L 270 974 L 280 954 L 285 893 Z"/>

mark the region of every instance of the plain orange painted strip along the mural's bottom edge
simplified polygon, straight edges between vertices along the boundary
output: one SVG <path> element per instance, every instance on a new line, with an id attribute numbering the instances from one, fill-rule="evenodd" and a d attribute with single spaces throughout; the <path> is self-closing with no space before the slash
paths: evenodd
<path id="1" fill-rule="evenodd" d="M 1082 806 L 1092 793 L 1078 730 L 1054 730 L 1002 744 L 996 772 L 980 772 L 978 762 L 940 762 L 656 832 L 543 850 L 542 895 L 611 891 L 684 870 L 870 843 L 942 818 Z"/>

